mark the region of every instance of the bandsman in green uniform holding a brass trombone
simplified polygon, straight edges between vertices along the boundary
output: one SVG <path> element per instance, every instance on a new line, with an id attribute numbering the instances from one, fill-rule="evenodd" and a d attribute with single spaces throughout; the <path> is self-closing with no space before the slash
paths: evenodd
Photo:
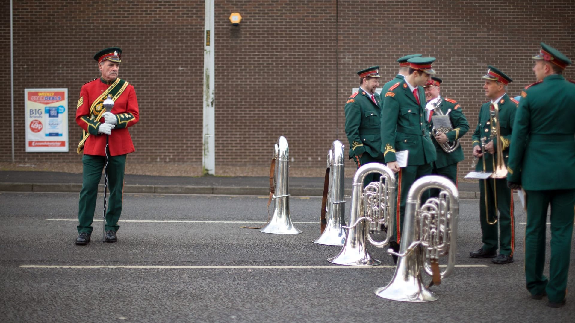
<path id="1" fill-rule="evenodd" d="M 473 156 L 478 157 L 476 171 L 493 171 L 493 165 L 501 154 L 505 164 L 509 156 L 509 146 L 511 145 L 511 130 L 517 101 L 507 95 L 507 84 L 512 82 L 509 76 L 505 75 L 497 68 L 488 66 L 487 74 L 481 76 L 485 79 L 483 86 L 485 96 L 490 100 L 483 103 L 479 113 L 479 122 L 473 133 Z M 492 130 L 493 104 L 499 106 L 499 128 L 497 140 L 501 141 L 501 152 L 496 152 L 496 143 L 490 136 Z M 481 141 L 485 147 L 482 153 Z M 485 165 L 485 169 L 484 169 Z M 477 251 L 471 251 L 469 256 L 474 258 L 493 258 L 495 264 L 508 264 L 513 262 L 513 251 L 515 251 L 515 224 L 513 219 L 513 192 L 507 187 L 506 180 L 485 179 L 479 181 L 480 195 L 480 222 L 481 241 L 483 246 Z M 499 210 L 499 220 L 497 220 L 497 210 Z M 499 255 L 497 249 L 499 248 Z"/>

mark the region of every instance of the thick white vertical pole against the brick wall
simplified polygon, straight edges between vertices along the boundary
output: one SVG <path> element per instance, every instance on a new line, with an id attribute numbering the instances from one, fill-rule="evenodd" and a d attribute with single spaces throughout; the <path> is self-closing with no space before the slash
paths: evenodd
<path id="1" fill-rule="evenodd" d="M 214 121 L 214 1 L 205 0 L 204 24 L 204 130 L 202 173 L 215 175 L 216 144 Z"/>

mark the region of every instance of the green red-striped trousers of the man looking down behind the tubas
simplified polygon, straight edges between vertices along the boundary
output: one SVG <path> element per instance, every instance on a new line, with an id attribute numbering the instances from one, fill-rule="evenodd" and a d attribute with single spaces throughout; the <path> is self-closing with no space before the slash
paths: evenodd
<path id="1" fill-rule="evenodd" d="M 401 233 L 403 229 L 403 219 L 405 214 L 405 202 L 407 200 L 407 193 L 411 189 L 411 185 L 416 179 L 421 178 L 425 175 L 431 175 L 432 163 L 419 165 L 419 166 L 407 166 L 400 168 L 396 174 L 397 189 L 396 189 L 396 225 L 393 228 L 394 237 L 396 237 L 397 243 L 400 243 Z M 425 190 L 421 195 L 421 202 L 427 201 L 430 197 L 430 190 Z"/>

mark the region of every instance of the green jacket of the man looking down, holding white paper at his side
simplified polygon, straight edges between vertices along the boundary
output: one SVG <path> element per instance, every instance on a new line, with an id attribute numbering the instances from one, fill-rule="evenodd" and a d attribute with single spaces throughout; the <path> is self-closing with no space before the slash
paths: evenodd
<path id="1" fill-rule="evenodd" d="M 408 166 L 430 164 L 437 157 L 425 120 L 423 87 L 418 86 L 417 91 L 419 104 L 403 79 L 384 94 L 384 107 L 381 111 L 381 152 L 386 163 L 396 161 L 396 151 L 404 150 L 409 151 Z"/>

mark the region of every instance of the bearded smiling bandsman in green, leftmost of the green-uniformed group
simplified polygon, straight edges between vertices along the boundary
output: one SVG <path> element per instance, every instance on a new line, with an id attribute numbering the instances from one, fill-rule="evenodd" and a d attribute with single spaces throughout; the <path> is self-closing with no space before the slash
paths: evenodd
<path id="1" fill-rule="evenodd" d="M 361 167 L 367 163 L 381 163 L 379 151 L 379 118 L 381 108 L 375 89 L 379 87 L 379 66 L 372 66 L 357 72 L 359 90 L 351 94 L 346 102 L 346 135 L 350 143 L 350 159 Z M 366 183 L 379 180 L 377 174 L 366 176 Z"/>

